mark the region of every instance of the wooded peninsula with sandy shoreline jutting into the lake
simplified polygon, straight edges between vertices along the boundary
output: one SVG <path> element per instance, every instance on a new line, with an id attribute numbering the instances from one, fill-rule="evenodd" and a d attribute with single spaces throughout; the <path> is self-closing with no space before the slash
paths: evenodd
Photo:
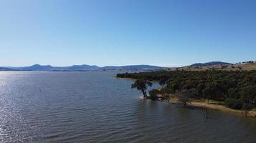
<path id="1" fill-rule="evenodd" d="M 256 65 L 254 62 L 250 64 Z M 239 66 L 243 65 L 247 66 L 248 63 Z M 218 109 L 256 118 L 256 70 L 234 70 L 238 67 L 234 64 L 222 65 L 225 68 L 219 69 L 216 69 L 216 65 L 199 66 L 200 70 L 187 66 L 175 70 L 116 74 L 116 77 L 136 79 L 132 88 L 142 91 L 147 99 L 182 103 L 184 107 Z M 147 95 L 146 89 L 152 81 L 158 82 L 160 87 L 150 90 Z"/>

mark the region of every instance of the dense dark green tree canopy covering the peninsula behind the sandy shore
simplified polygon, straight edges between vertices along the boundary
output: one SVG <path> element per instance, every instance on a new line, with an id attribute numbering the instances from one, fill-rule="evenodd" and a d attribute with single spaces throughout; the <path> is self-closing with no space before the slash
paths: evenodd
<path id="1" fill-rule="evenodd" d="M 147 71 L 117 74 L 116 77 L 140 79 L 132 86 L 140 90 L 145 90 L 148 81 L 158 81 L 168 93 L 195 89 L 194 98 L 224 101 L 233 109 L 256 106 L 255 70 Z"/>

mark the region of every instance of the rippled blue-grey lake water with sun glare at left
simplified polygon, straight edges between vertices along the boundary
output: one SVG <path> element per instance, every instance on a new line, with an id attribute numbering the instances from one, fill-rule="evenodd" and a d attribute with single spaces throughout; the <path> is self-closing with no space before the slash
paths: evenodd
<path id="1" fill-rule="evenodd" d="M 142 99 L 116 73 L 1 71 L 0 142 L 256 142 L 256 119 Z"/>

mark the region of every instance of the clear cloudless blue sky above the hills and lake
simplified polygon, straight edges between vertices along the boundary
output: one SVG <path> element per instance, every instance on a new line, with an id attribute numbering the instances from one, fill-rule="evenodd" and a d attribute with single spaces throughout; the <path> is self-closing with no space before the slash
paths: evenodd
<path id="1" fill-rule="evenodd" d="M 255 0 L 0 0 L 0 66 L 248 60 Z"/>

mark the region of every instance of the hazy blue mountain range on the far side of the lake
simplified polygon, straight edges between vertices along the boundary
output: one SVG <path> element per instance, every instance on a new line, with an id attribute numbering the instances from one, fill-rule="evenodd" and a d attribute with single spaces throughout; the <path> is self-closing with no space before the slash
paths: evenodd
<path id="1" fill-rule="evenodd" d="M 118 69 L 129 69 L 129 70 L 157 70 L 162 69 L 160 66 L 150 65 L 131 65 L 131 66 L 91 66 L 87 64 L 73 65 L 73 66 L 50 66 L 35 64 L 32 66 L 23 67 L 0 67 L 0 71 L 88 71 L 88 70 L 118 70 Z"/>

